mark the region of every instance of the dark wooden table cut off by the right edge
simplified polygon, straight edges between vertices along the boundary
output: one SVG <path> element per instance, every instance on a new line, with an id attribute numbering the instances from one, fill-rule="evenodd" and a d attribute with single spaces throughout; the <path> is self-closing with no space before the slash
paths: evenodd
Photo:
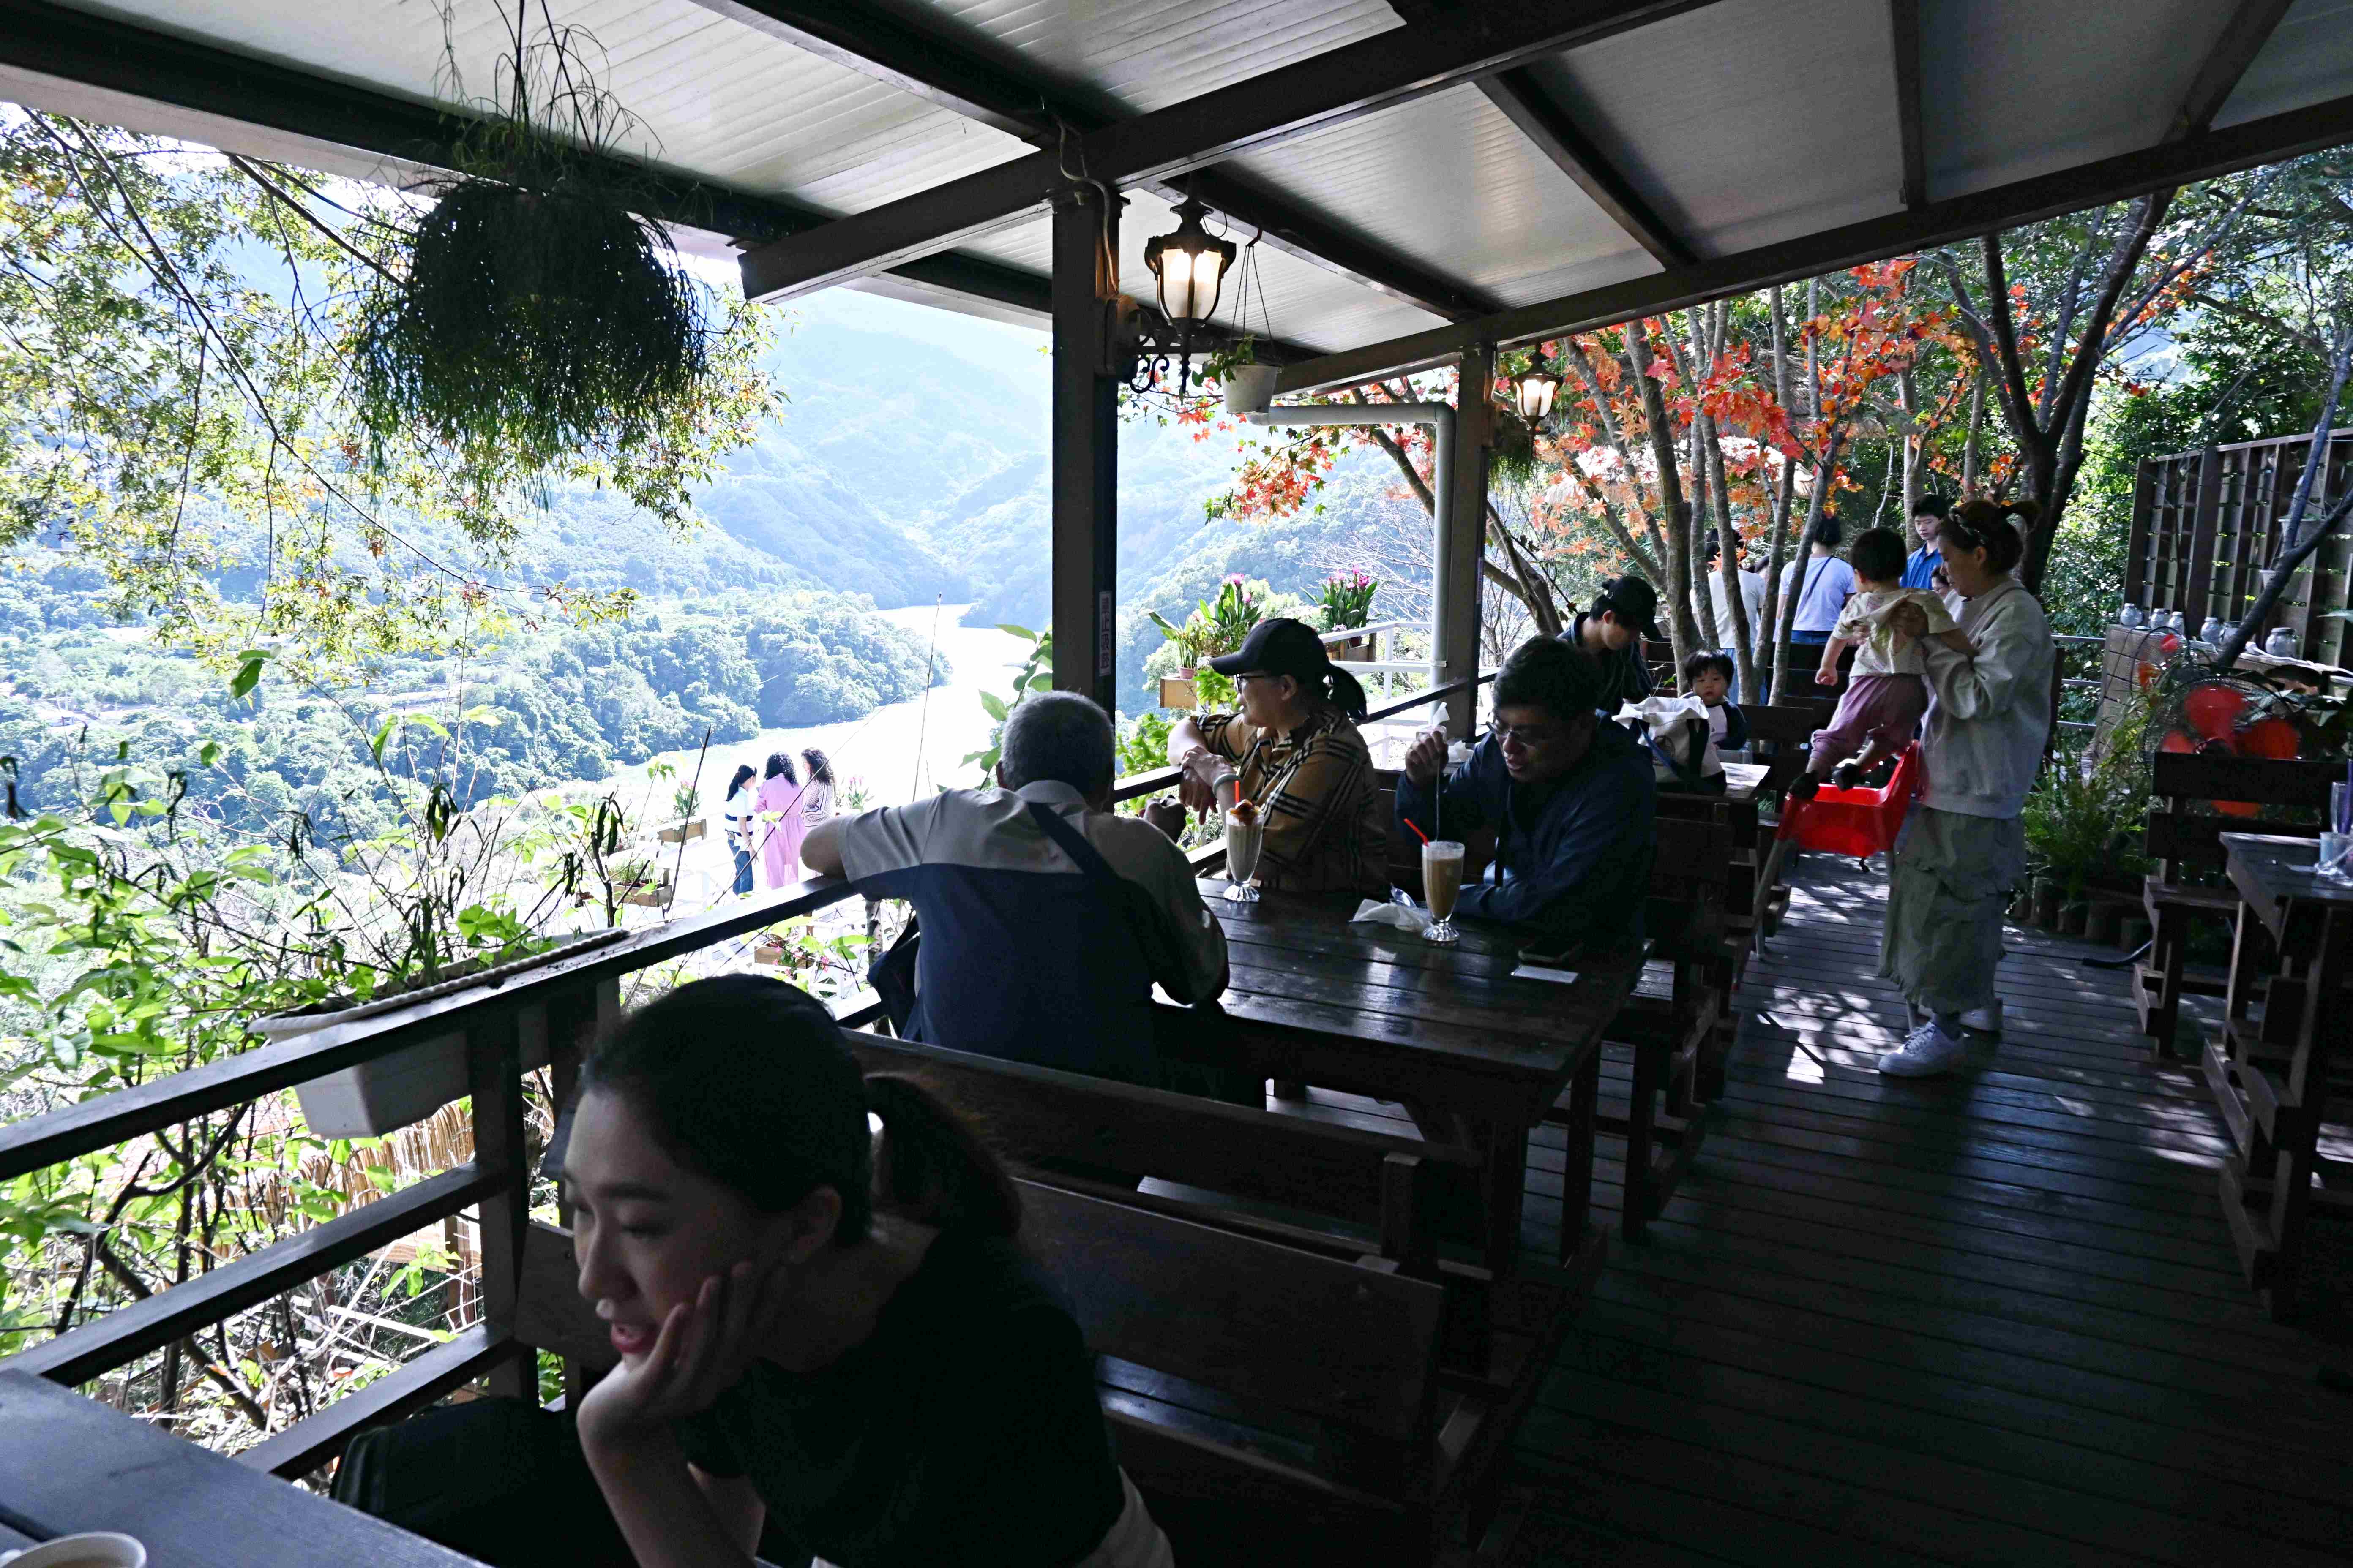
<path id="1" fill-rule="evenodd" d="M 2221 1208 L 2238 1241 L 2247 1284 L 2264 1291 L 2271 1314 L 2294 1312 L 2304 1262 L 2304 1225 L 2315 1201 L 2353 1215 L 2353 1173 L 2320 1157 L 2320 1119 L 2329 1098 L 2329 1058 L 2353 1030 L 2353 886 L 2313 877 L 2318 844 L 2254 832 L 2221 835 L 2224 865 L 2238 889 L 2238 943 L 2231 997 L 2219 1039 L 2200 1056 L 2207 1088 L 2238 1154 L 2224 1159 Z M 2249 1001 L 2254 940 L 2261 924 L 2278 947 L 2261 1018 Z M 2315 1190 L 2313 1178 L 2329 1185 Z M 2332 1178 L 2332 1180 L 2329 1180 Z"/>

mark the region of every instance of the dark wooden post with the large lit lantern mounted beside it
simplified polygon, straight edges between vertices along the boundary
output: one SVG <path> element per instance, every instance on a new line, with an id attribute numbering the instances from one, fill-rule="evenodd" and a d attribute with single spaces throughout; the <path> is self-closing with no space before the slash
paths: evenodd
<path id="1" fill-rule="evenodd" d="M 1120 381 L 1111 374 L 1106 252 L 1120 214 L 1085 186 L 1054 197 L 1054 689 L 1118 712 Z M 1115 197 L 1113 197 L 1115 200 Z"/>

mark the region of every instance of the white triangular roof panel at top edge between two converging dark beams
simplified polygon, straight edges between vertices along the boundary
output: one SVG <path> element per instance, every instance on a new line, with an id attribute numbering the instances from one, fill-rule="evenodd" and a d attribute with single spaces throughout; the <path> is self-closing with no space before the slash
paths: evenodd
<path id="1" fill-rule="evenodd" d="M 1386 0 L 934 0 L 953 28 L 1134 113 L 1405 26 Z"/>

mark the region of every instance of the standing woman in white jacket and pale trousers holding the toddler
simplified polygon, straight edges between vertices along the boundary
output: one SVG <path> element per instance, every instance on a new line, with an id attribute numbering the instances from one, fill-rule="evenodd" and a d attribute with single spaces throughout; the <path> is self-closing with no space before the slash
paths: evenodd
<path id="1" fill-rule="evenodd" d="M 1913 1027 L 1880 1058 L 1887 1074 L 1951 1072 L 1967 1053 L 1965 1016 L 2000 1006 L 2002 905 L 2026 875 L 2026 792 L 2049 743 L 2057 661 L 2042 604 L 2012 576 L 2033 520 L 2031 501 L 1965 501 L 1937 534 L 1977 654 L 1925 644 L 1925 783 L 1889 856 L 1880 933 L 1880 978 L 1904 987 Z M 1920 635 L 1927 616 L 1913 614 Z"/>

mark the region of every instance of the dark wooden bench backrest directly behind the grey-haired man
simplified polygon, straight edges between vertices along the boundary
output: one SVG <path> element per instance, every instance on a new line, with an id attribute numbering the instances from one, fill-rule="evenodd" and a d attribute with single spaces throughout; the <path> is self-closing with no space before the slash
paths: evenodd
<path id="1" fill-rule="evenodd" d="M 1111 1166 L 1369 1225 L 1400 1262 L 1428 1258 L 1435 1213 L 1475 1204 L 1468 1150 L 880 1034 L 849 1032 L 849 1048 L 861 1072 L 929 1084 L 1016 1166 Z"/>

